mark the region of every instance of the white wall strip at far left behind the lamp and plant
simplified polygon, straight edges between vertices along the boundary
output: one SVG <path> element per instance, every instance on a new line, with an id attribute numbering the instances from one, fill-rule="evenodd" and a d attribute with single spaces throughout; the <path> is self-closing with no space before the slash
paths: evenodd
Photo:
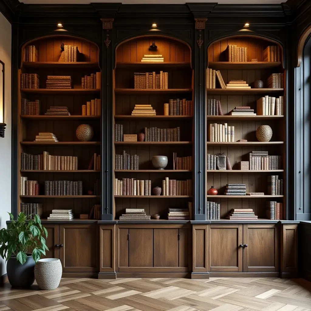
<path id="1" fill-rule="evenodd" d="M 6 227 L 11 212 L 11 46 L 12 27 L 0 12 L 0 59 L 5 64 L 4 138 L 0 137 L 0 228 Z M 2 66 L 1 66 L 2 67 Z M 2 74 L 2 72 L 1 72 Z M 2 100 L 2 99 L 1 99 Z M 1 108 L 2 114 L 2 108 Z M 5 261 L 0 257 L 0 276 L 6 273 Z"/>

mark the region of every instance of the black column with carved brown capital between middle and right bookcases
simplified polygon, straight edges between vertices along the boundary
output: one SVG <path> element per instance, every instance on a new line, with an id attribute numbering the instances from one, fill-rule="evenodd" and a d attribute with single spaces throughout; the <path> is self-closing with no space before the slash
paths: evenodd
<path id="1" fill-rule="evenodd" d="M 206 220 L 206 55 L 204 30 L 207 18 L 195 18 L 194 43 L 194 220 Z"/>

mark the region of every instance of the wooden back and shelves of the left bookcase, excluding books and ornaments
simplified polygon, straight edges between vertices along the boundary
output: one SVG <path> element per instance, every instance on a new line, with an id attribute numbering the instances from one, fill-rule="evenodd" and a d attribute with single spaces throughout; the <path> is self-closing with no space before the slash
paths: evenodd
<path id="1" fill-rule="evenodd" d="M 79 53 L 76 62 L 59 62 L 63 49 L 61 44 L 76 46 Z M 32 61 L 26 57 L 27 46 L 32 46 Z M 34 48 L 35 47 L 35 53 Z M 99 67 L 99 48 L 96 44 L 73 36 L 49 36 L 27 42 L 21 49 L 21 67 L 19 69 L 18 92 L 18 139 L 19 159 L 21 153 L 43 155 L 44 151 L 53 156 L 77 157 L 76 169 L 50 169 L 42 167 L 22 167 L 19 161 L 18 180 L 25 177 L 39 183 L 38 195 L 21 193 L 21 183 L 18 185 L 18 212 L 21 202 L 41 203 L 42 218 L 46 218 L 52 209 L 72 209 L 75 219 L 80 214 L 89 214 L 92 207 L 101 203 L 100 193 L 95 193 L 95 184 L 101 179 L 100 167 L 90 165 L 92 156 L 101 151 L 101 114 L 82 115 L 82 105 L 91 100 L 101 98 L 101 82 L 92 89 L 84 89 L 81 78 L 101 72 Z M 38 88 L 21 88 L 21 74 L 39 75 Z M 100 74 L 99 74 L 100 75 Z M 47 89 L 47 76 L 70 76 L 71 89 Z M 99 86 L 99 87 L 98 87 Z M 22 99 L 40 101 L 40 113 L 25 114 L 22 109 Z M 45 115 L 50 107 L 67 107 L 70 115 Z M 25 106 L 24 106 L 25 107 Z M 100 110 L 100 109 L 99 109 Z M 81 124 L 93 128 L 91 141 L 81 142 L 77 139 L 76 129 Z M 35 141 L 39 132 L 54 133 L 59 142 Z M 54 164 L 55 165 L 55 164 Z M 57 165 L 56 165 L 57 166 Z M 56 168 L 56 167 L 55 167 Z M 72 167 L 73 168 L 73 167 Z M 82 195 L 45 195 L 45 181 L 82 181 Z M 70 193 L 69 193 L 70 194 Z M 73 193 L 74 194 L 74 193 Z"/>

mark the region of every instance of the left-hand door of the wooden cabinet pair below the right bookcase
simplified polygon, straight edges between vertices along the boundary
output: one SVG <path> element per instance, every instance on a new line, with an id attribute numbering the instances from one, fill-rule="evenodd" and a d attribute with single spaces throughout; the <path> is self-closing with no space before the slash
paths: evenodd
<path id="1" fill-rule="evenodd" d="M 211 225 L 210 271 L 242 272 L 242 225 Z"/>

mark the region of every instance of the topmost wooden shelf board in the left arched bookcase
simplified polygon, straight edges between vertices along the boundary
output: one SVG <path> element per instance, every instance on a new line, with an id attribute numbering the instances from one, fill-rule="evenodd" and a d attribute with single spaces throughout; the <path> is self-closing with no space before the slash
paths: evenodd
<path id="1" fill-rule="evenodd" d="M 70 69 L 80 69 L 80 68 L 99 68 L 97 62 L 72 62 L 72 63 L 62 63 L 62 62 L 23 62 L 22 67 L 26 68 L 70 68 Z"/>

